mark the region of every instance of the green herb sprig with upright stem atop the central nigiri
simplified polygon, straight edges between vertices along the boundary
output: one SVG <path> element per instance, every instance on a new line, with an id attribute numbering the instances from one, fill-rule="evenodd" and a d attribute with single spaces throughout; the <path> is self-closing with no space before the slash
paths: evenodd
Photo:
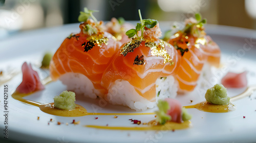
<path id="1" fill-rule="evenodd" d="M 139 37 L 138 36 L 138 31 L 141 31 L 141 36 L 140 37 L 142 37 L 143 36 L 143 30 L 145 30 L 145 27 L 148 28 L 148 29 L 151 29 L 151 28 L 155 27 L 158 23 L 158 21 L 155 20 L 155 19 L 142 19 L 140 9 L 139 9 L 139 16 L 140 16 L 140 22 L 141 23 L 137 23 L 135 29 L 130 29 L 125 33 L 129 38 L 132 38 L 134 35 Z"/>

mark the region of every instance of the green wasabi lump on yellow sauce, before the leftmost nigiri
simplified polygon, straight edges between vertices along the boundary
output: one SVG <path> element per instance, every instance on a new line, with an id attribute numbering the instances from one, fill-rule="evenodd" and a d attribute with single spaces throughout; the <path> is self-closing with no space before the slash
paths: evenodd
<path id="1" fill-rule="evenodd" d="M 54 107 L 62 110 L 72 110 L 76 107 L 75 101 L 75 92 L 72 91 L 63 91 L 59 94 L 59 96 L 55 96 Z"/>

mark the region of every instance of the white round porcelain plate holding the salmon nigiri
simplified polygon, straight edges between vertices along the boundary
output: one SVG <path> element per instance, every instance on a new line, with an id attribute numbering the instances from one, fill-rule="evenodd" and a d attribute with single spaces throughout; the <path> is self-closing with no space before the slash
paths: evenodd
<path id="1" fill-rule="evenodd" d="M 72 32 L 78 32 L 79 24 L 63 27 L 22 32 L 0 41 L 0 70 L 19 71 L 24 61 L 38 64 L 45 52 L 57 50 L 63 39 Z M 170 24 L 160 23 L 162 30 Z M 223 76 L 227 70 L 247 71 L 248 85 L 256 84 L 256 32 L 224 26 L 207 25 L 206 32 L 219 44 L 222 51 L 222 64 L 227 67 L 215 73 Z M 209 113 L 197 109 L 188 109 L 193 114 L 192 126 L 185 130 L 175 131 L 136 131 L 136 130 L 104 130 L 84 127 L 84 125 L 100 126 L 143 126 L 132 124 L 129 119 L 142 123 L 153 120 L 154 115 L 88 115 L 81 117 L 62 117 L 44 113 L 38 107 L 26 105 L 14 100 L 11 93 L 22 80 L 18 74 L 4 85 L 8 85 L 8 141 L 20 142 L 255 142 L 256 141 L 256 93 L 250 97 L 233 102 L 236 110 L 228 113 Z M 214 81 L 214 76 L 211 79 Z M 212 82 L 209 81 L 209 82 Z M 0 86 L 0 141 L 4 139 L 4 85 Z M 61 82 L 51 82 L 46 89 L 31 94 L 26 99 L 51 103 L 53 97 L 66 87 Z M 236 96 L 245 89 L 228 89 L 228 96 Z M 198 87 L 194 92 L 178 96 L 183 106 L 204 101 L 205 89 Z M 193 100 L 193 103 L 190 103 Z M 86 108 L 88 112 L 131 113 L 135 112 L 122 106 L 99 106 L 98 100 L 77 97 L 76 104 Z M 99 108 L 100 107 L 100 108 Z M 149 109 L 145 112 L 154 112 Z M 40 117 L 37 120 L 37 117 Z M 98 117 L 95 120 L 95 117 Z M 50 122 L 50 119 L 54 122 Z M 71 123 L 80 121 L 79 125 Z M 57 125 L 57 122 L 64 124 Z"/>

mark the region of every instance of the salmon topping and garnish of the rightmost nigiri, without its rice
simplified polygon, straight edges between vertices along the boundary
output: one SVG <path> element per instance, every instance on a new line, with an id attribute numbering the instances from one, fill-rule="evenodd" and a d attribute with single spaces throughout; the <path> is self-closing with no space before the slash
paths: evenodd
<path id="1" fill-rule="evenodd" d="M 175 76 L 180 92 L 195 89 L 205 63 L 216 67 L 220 64 L 220 48 L 205 35 L 203 24 L 206 21 L 200 19 L 186 19 L 185 28 L 167 41 L 182 56 L 178 74 Z"/>

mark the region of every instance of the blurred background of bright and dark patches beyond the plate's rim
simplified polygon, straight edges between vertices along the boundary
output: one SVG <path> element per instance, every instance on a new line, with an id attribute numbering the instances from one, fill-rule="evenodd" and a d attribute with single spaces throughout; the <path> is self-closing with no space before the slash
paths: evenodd
<path id="1" fill-rule="evenodd" d="M 200 12 L 207 23 L 256 29 L 254 0 L 0 0 L 0 37 L 15 31 L 76 23 L 83 8 L 99 10 L 98 20 L 123 17 L 183 21 Z"/>

